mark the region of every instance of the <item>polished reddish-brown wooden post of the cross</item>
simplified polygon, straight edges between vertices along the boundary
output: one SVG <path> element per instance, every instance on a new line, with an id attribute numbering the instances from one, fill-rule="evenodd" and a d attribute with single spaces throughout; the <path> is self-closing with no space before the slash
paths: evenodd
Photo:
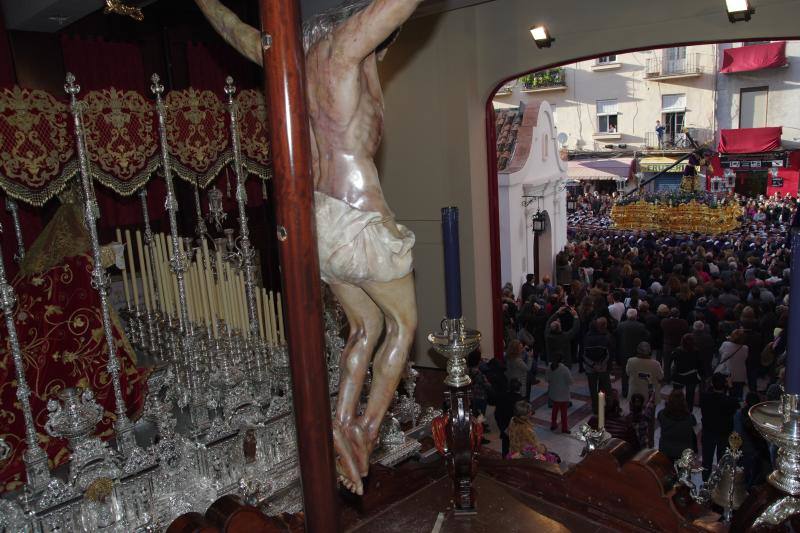
<path id="1" fill-rule="evenodd" d="M 270 124 L 273 198 L 305 524 L 306 531 L 325 533 L 339 530 L 339 512 L 314 227 L 314 181 L 300 8 L 297 0 L 260 0 L 260 5 L 265 34 L 264 92 Z"/>

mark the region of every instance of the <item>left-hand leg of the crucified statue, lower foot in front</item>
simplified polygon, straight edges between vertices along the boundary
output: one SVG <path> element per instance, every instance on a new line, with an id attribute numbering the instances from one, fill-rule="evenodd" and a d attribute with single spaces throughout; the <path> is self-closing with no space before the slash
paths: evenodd
<path id="1" fill-rule="evenodd" d="M 351 426 L 354 425 L 367 367 L 383 329 L 383 313 L 358 287 L 331 283 L 330 288 L 342 304 L 350 326 L 350 334 L 342 350 L 339 365 L 339 395 L 333 425 L 333 443 L 339 454 L 341 475 L 349 481 L 344 485 L 352 492 L 361 494 L 361 477 L 366 472 L 360 468 L 358 454 L 351 445 Z"/>

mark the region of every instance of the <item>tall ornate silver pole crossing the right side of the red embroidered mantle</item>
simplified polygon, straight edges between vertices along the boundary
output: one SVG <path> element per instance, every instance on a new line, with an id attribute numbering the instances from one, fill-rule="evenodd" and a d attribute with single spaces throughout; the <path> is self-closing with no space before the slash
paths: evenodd
<path id="1" fill-rule="evenodd" d="M 117 347 L 114 340 L 114 330 L 112 329 L 111 313 L 108 304 L 108 287 L 109 279 L 100 258 L 100 241 L 97 236 L 97 223 L 96 216 L 99 213 L 97 200 L 95 200 L 91 175 L 89 173 L 89 160 L 86 155 L 86 145 L 84 142 L 83 132 L 83 115 L 82 107 L 78 102 L 78 93 L 81 90 L 80 85 L 75 83 L 75 76 L 70 72 L 67 73 L 67 83 L 64 85 L 64 90 L 70 97 L 70 109 L 75 124 L 75 140 L 78 148 L 78 162 L 81 174 L 81 183 L 83 185 L 83 200 L 84 205 L 84 221 L 89 230 L 89 236 L 92 244 L 92 259 L 94 260 L 94 267 L 92 269 L 92 285 L 100 295 L 100 308 L 103 318 L 103 331 L 106 336 L 106 343 L 108 345 L 108 373 L 111 375 L 111 381 L 114 388 L 114 399 L 116 402 L 117 421 L 115 423 L 117 447 L 123 454 L 127 455 L 136 447 L 136 441 L 133 435 L 133 424 L 127 415 L 125 400 L 122 397 L 122 386 L 120 384 L 119 376 L 119 360 L 117 359 Z"/>

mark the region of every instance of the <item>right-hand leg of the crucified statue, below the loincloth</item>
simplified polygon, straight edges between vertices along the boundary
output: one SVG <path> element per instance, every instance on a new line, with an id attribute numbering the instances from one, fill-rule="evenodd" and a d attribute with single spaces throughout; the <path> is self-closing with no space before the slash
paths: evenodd
<path id="1" fill-rule="evenodd" d="M 386 317 L 386 337 L 372 363 L 372 387 L 364 416 L 356 427 L 353 451 L 361 467 L 369 466 L 369 454 L 378 439 L 383 416 L 406 368 L 406 360 L 417 328 L 414 274 L 387 283 L 366 282 L 362 288 Z M 360 444 L 360 445 L 359 445 Z M 365 467 L 366 465 L 366 467 Z"/>

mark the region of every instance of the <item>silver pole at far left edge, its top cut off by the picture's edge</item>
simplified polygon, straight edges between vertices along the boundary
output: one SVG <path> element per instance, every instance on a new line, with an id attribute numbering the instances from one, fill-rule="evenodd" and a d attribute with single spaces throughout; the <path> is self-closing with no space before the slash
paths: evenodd
<path id="1" fill-rule="evenodd" d="M 3 226 L 0 225 L 0 233 L 2 232 Z M 3 250 L 0 248 L 0 304 L 2 304 L 3 315 L 6 319 L 8 343 L 11 346 L 11 356 L 14 359 L 14 369 L 17 373 L 17 399 L 25 420 L 25 441 L 28 445 L 24 456 L 25 472 L 30 489 L 33 492 L 40 492 L 50 481 L 50 470 L 47 466 L 47 453 L 39 447 L 39 438 L 36 435 L 36 426 L 33 422 L 30 402 L 31 389 L 28 387 L 28 380 L 25 378 L 22 350 L 20 350 L 19 337 L 17 337 L 17 326 L 14 323 L 14 306 L 16 303 L 17 295 L 14 288 L 6 280 Z"/>

